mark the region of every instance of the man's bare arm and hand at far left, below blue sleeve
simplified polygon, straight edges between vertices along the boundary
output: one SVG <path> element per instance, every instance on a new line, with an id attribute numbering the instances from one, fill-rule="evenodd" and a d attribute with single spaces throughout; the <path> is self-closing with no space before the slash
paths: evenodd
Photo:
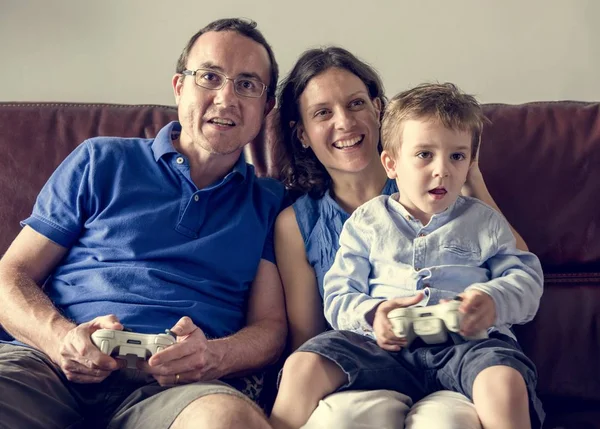
<path id="1" fill-rule="evenodd" d="M 17 340 L 46 353 L 67 377 L 99 383 L 119 368 L 90 340 L 97 329 L 123 329 L 115 316 L 77 326 L 64 318 L 40 285 L 67 249 L 26 226 L 0 260 L 0 323 Z"/>

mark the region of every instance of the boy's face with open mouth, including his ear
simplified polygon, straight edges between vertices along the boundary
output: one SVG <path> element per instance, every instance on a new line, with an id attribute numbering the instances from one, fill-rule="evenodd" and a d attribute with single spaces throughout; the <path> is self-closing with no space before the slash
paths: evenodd
<path id="1" fill-rule="evenodd" d="M 460 194 L 471 165 L 471 133 L 434 119 L 409 119 L 396 155 L 383 151 L 381 161 L 388 177 L 396 179 L 400 203 L 426 225 Z"/>

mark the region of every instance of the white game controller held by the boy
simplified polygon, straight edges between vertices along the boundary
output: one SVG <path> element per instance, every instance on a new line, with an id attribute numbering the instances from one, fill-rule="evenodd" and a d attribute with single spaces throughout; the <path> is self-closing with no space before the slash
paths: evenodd
<path id="1" fill-rule="evenodd" d="M 392 323 L 392 331 L 397 337 L 406 338 L 407 346 L 417 337 L 426 344 L 440 344 L 448 340 L 448 332 L 459 333 L 462 314 L 458 312 L 460 297 L 431 307 L 396 308 L 388 313 Z M 483 330 L 465 340 L 481 340 L 488 338 Z"/>

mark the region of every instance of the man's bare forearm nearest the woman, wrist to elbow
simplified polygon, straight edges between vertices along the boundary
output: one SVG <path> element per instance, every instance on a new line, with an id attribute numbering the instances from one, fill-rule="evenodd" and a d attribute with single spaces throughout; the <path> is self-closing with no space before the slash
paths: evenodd
<path id="1" fill-rule="evenodd" d="M 219 359 L 218 378 L 243 376 L 275 363 L 286 335 L 285 321 L 263 320 L 229 337 L 210 340 L 212 354 Z"/>

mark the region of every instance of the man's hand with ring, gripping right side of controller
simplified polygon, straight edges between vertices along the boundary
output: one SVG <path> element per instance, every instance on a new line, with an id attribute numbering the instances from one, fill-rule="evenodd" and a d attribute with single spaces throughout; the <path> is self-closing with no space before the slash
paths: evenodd
<path id="1" fill-rule="evenodd" d="M 171 331 L 177 335 L 177 342 L 153 355 L 148 362 L 141 362 L 142 371 L 152 374 L 161 386 L 220 377 L 216 373 L 219 358 L 211 352 L 204 332 L 192 319 L 182 317 Z"/>

